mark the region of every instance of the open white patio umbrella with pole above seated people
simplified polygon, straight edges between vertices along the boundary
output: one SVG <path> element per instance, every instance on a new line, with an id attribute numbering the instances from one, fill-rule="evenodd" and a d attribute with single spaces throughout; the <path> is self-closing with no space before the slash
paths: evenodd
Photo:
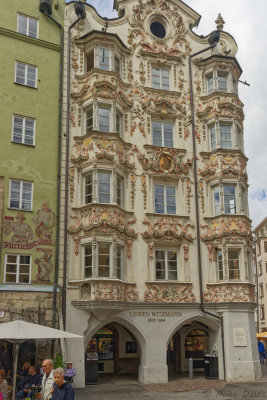
<path id="1" fill-rule="evenodd" d="M 15 400 L 19 344 L 29 339 L 75 339 L 83 336 L 22 320 L 0 324 L 0 339 L 14 343 L 12 400 Z"/>

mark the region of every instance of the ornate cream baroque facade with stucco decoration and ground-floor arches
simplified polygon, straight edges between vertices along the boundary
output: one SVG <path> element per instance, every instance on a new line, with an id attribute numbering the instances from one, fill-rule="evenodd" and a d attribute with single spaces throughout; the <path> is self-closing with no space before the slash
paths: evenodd
<path id="1" fill-rule="evenodd" d="M 144 383 L 167 382 L 189 357 L 203 367 L 205 352 L 218 355 L 220 379 L 256 380 L 237 44 L 221 16 L 215 33 L 193 33 L 200 15 L 179 0 L 114 6 L 112 20 L 86 4 L 71 27 L 73 2 L 65 15 L 61 254 L 66 327 L 85 336 L 67 349 L 76 383 L 84 353 L 99 373 Z"/>

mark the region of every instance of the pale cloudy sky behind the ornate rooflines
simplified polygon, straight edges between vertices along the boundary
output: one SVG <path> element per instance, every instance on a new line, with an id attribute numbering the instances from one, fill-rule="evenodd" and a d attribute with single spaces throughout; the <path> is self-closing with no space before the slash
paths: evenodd
<path id="1" fill-rule="evenodd" d="M 103 17 L 114 18 L 113 0 L 87 0 Z M 267 1 L 266 0 L 184 0 L 202 18 L 195 32 L 207 35 L 216 28 L 220 12 L 224 30 L 238 44 L 237 59 L 243 74 L 239 96 L 245 107 L 245 153 L 249 158 L 250 218 L 255 228 L 267 216 Z"/>

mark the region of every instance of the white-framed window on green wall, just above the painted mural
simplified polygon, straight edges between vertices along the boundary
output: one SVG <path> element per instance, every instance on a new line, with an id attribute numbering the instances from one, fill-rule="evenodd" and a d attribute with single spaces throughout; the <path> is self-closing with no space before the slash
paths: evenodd
<path id="1" fill-rule="evenodd" d="M 10 180 L 9 207 L 32 210 L 32 182 Z"/>

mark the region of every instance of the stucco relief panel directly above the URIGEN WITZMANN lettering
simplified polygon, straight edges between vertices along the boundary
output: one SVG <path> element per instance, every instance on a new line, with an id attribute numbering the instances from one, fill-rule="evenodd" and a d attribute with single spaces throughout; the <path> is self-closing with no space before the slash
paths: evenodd
<path id="1" fill-rule="evenodd" d="M 195 295 L 190 286 L 149 285 L 144 293 L 144 300 L 151 303 L 191 303 Z"/>

